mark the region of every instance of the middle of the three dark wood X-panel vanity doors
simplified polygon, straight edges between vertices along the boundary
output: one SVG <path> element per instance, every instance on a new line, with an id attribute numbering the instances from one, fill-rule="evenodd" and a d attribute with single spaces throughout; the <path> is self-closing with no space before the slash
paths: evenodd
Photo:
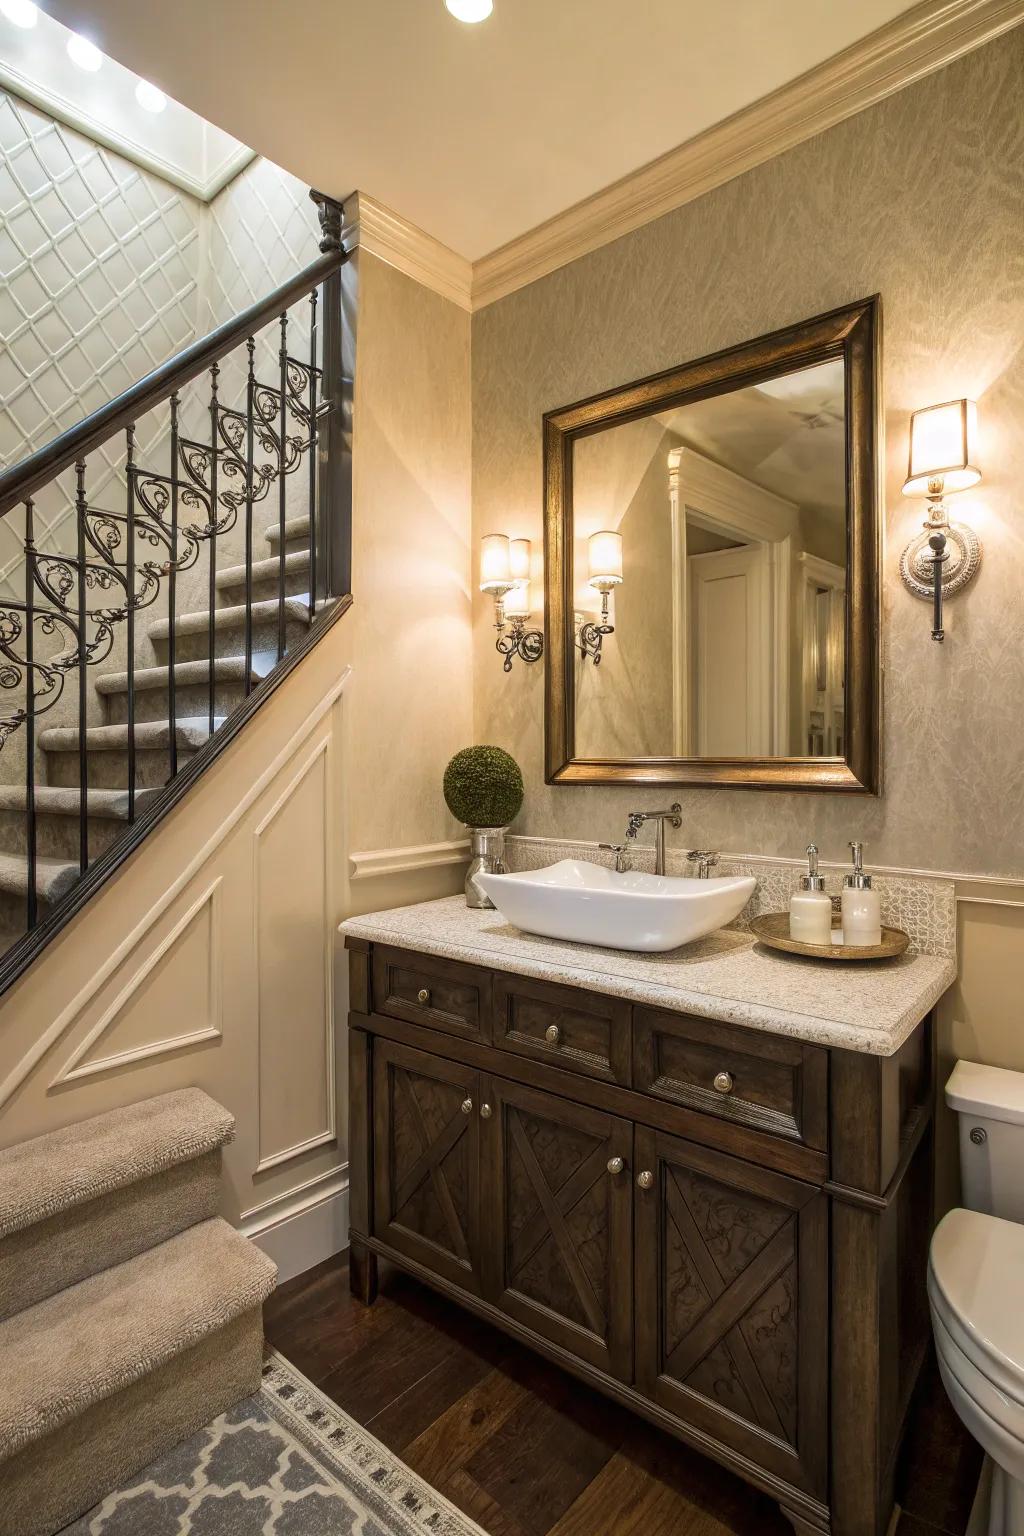
<path id="1" fill-rule="evenodd" d="M 633 1126 L 491 1078 L 484 1134 L 488 1299 L 633 1379 Z"/>

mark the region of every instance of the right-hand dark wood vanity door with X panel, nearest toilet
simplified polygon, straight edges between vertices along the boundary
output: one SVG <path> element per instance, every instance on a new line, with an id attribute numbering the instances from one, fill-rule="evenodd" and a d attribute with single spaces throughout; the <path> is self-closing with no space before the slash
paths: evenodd
<path id="1" fill-rule="evenodd" d="M 637 1127 L 637 1385 L 785 1482 L 826 1491 L 820 1190 Z"/>

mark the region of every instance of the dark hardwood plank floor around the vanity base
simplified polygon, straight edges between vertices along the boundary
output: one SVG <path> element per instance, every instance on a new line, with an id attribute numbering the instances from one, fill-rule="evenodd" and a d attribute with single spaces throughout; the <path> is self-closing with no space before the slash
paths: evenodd
<path id="1" fill-rule="evenodd" d="M 763 1495 L 387 1266 L 373 1307 L 341 1256 L 264 1313 L 275 1349 L 490 1536 L 792 1536 Z M 929 1364 L 898 1536 L 963 1536 L 979 1462 Z"/>

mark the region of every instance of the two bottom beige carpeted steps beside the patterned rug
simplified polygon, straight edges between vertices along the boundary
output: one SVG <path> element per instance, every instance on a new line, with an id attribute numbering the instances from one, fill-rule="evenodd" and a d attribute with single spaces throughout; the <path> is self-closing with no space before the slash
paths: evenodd
<path id="1" fill-rule="evenodd" d="M 51 1536 L 258 1390 L 276 1272 L 216 1215 L 232 1135 L 181 1089 L 0 1150 L 0 1536 Z"/>

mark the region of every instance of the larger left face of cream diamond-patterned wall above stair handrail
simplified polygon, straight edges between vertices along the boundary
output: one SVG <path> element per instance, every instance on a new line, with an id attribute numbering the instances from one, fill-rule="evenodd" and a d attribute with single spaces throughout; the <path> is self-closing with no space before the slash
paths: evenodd
<path id="1" fill-rule="evenodd" d="M 0 94 L 0 462 L 17 464 L 195 338 L 203 206 Z M 161 424 L 147 422 L 149 438 Z M 140 449 L 150 444 L 146 436 Z M 115 479 L 107 450 L 97 493 Z M 97 456 L 97 461 L 100 456 Z M 40 498 L 37 539 L 71 510 Z M 0 522 L 0 576 L 21 564 Z"/>

